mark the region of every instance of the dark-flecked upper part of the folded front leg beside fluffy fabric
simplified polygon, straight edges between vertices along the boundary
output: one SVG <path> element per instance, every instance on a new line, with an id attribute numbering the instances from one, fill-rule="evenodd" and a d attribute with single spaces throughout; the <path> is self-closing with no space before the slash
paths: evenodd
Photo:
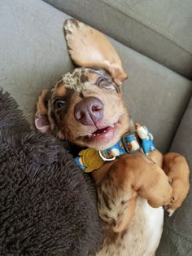
<path id="1" fill-rule="evenodd" d="M 116 161 L 105 163 L 100 169 L 92 173 L 98 191 L 99 215 L 109 224 L 112 232 L 123 232 L 133 217 L 137 193 L 124 191 L 120 183 L 114 179 L 113 165 Z M 118 170 L 117 170 L 118 172 Z M 123 173 L 122 173 L 123 174 Z"/>

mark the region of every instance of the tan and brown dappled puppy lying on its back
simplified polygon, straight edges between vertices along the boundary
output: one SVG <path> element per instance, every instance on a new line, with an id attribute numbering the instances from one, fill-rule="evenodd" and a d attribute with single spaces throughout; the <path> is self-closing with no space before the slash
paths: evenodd
<path id="1" fill-rule="evenodd" d="M 67 20 L 64 30 L 78 68 L 41 92 L 35 125 L 83 149 L 76 159 L 94 178 L 98 212 L 106 223 L 97 255 L 155 255 L 164 221 L 161 206 L 169 214 L 181 206 L 190 187 L 189 166 L 177 153 L 153 150 L 146 156 L 142 148 L 103 156 L 131 134 L 120 89 L 127 74 L 102 33 L 77 20 Z"/>

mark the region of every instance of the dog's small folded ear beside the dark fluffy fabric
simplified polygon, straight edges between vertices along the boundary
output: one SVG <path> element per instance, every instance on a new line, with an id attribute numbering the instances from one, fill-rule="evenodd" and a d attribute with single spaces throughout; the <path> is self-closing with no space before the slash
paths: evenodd
<path id="1" fill-rule="evenodd" d="M 46 95 L 49 90 L 42 90 L 37 101 L 37 112 L 35 113 L 35 126 L 42 133 L 50 133 L 50 121 Z"/>

